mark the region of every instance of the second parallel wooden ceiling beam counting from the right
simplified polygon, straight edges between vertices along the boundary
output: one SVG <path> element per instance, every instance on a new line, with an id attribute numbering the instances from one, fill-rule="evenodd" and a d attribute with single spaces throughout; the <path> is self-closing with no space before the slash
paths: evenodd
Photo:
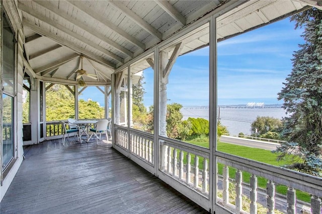
<path id="1" fill-rule="evenodd" d="M 129 8 L 123 5 L 123 3 L 119 1 L 109 1 L 109 3 L 113 5 L 116 9 L 124 13 L 127 17 L 129 17 L 133 22 L 135 22 L 137 25 L 139 25 L 149 34 L 153 35 L 160 41 L 162 40 L 162 33 L 160 33 L 155 28 L 153 28 L 150 24 L 145 22 L 141 17 L 137 16 L 133 11 L 131 11 Z"/>

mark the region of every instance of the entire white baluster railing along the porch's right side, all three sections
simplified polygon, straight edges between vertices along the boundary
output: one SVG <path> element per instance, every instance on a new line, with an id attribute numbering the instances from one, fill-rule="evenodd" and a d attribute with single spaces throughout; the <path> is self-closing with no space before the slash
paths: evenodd
<path id="1" fill-rule="evenodd" d="M 166 137 L 158 136 L 158 140 L 160 153 L 154 156 L 152 134 L 115 125 L 115 144 L 126 155 L 139 158 L 141 162 L 136 162 L 144 168 L 149 165 L 151 172 L 159 171 L 160 179 L 208 210 L 210 150 Z M 214 184 L 214 210 L 224 207 L 225 213 L 322 213 L 322 178 L 218 151 L 213 159 L 220 172 Z M 229 171 L 230 175 L 234 171 L 231 177 Z M 249 176 L 248 180 L 244 175 Z M 264 187 L 258 185 L 263 179 Z M 284 193 L 277 190 L 281 186 Z M 306 199 L 300 194 L 306 194 Z"/>

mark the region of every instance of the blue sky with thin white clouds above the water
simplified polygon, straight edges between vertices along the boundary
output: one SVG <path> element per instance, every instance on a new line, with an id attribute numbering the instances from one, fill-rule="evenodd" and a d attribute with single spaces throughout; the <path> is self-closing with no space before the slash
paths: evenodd
<path id="1" fill-rule="evenodd" d="M 294 30 L 289 19 L 218 43 L 218 104 L 248 102 L 283 103 L 277 100 L 285 78 L 292 69 L 292 54 L 303 29 Z M 183 106 L 209 105 L 208 47 L 180 56 L 169 76 L 168 103 Z M 144 71 L 144 105 L 153 104 L 153 71 Z M 87 99 L 84 93 L 81 99 Z M 104 105 L 99 96 L 93 100 Z M 99 94 L 99 93 L 98 93 Z"/>

